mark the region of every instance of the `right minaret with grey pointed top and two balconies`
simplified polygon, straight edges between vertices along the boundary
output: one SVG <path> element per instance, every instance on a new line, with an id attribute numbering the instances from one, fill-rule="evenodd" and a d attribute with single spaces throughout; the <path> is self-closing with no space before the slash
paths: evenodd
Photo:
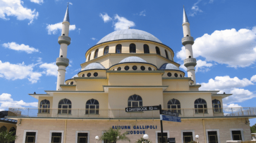
<path id="1" fill-rule="evenodd" d="M 185 46 L 185 52 L 186 52 L 186 59 L 184 60 L 184 66 L 187 67 L 188 77 L 191 77 L 191 79 L 194 81 L 194 84 L 196 84 L 195 70 L 194 70 L 194 67 L 196 66 L 196 59 L 193 58 L 193 50 L 192 50 L 192 45 L 194 44 L 194 38 L 191 37 L 190 35 L 190 23 L 185 13 L 184 5 L 183 5 L 182 27 L 183 27 L 184 37 L 181 39 L 181 42 L 182 42 L 182 45 Z"/>

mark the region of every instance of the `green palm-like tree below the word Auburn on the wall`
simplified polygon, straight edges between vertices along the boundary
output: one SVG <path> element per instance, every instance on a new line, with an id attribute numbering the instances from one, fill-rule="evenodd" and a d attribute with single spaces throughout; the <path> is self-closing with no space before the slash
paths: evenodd
<path id="1" fill-rule="evenodd" d="M 120 129 L 110 128 L 100 137 L 100 140 L 104 140 L 106 143 L 116 143 L 118 140 L 128 140 L 131 142 L 130 139 L 126 137 L 127 134 L 128 132 L 121 134 Z"/>

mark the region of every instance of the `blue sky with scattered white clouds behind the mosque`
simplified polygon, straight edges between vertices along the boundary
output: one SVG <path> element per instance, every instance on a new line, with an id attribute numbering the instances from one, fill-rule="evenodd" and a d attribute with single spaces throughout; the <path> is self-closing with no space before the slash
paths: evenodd
<path id="1" fill-rule="evenodd" d="M 71 45 L 66 80 L 80 70 L 85 52 L 107 34 L 140 29 L 153 34 L 185 59 L 181 44 L 183 5 L 194 37 L 200 90 L 233 95 L 224 107 L 255 107 L 256 18 L 253 0 L 0 0 L 0 110 L 37 107 L 28 93 L 56 90 L 61 34 L 70 2 Z M 185 72 L 186 73 L 186 72 Z M 250 119 L 251 126 L 256 119 Z"/>

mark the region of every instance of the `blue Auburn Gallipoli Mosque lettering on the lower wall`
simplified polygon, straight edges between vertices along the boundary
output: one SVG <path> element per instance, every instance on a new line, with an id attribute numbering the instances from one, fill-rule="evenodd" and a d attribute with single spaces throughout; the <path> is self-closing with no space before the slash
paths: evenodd
<path id="1" fill-rule="evenodd" d="M 112 126 L 112 129 L 123 129 L 127 130 L 128 134 L 136 135 L 136 134 L 146 134 L 146 129 L 157 129 L 156 125 L 142 125 L 142 126 Z M 144 130 L 143 130 L 144 129 Z"/>

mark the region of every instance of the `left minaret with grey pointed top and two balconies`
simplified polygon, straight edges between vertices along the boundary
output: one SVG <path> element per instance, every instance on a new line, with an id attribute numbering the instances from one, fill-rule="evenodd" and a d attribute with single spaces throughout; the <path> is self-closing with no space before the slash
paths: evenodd
<path id="1" fill-rule="evenodd" d="M 62 90 L 61 84 L 65 83 L 66 67 L 69 64 L 69 59 L 66 58 L 67 46 L 70 44 L 71 38 L 68 37 L 69 33 L 69 14 L 68 4 L 66 8 L 66 14 L 62 22 L 62 36 L 58 38 L 58 43 L 61 45 L 59 58 L 56 59 L 56 65 L 58 66 L 57 88 L 56 90 Z"/>

